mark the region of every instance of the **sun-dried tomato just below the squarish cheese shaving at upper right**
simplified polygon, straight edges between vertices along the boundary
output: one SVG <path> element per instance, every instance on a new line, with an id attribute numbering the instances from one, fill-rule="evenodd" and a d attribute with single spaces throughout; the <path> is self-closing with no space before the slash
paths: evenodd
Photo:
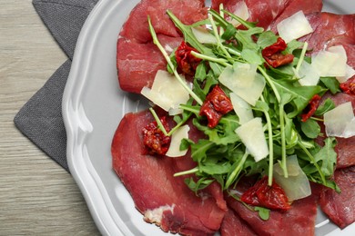
<path id="1" fill-rule="evenodd" d="M 282 38 L 278 38 L 275 44 L 271 44 L 261 51 L 262 56 L 269 65 L 276 68 L 284 64 L 290 64 L 293 62 L 293 54 L 282 54 L 287 48 L 287 44 Z"/>

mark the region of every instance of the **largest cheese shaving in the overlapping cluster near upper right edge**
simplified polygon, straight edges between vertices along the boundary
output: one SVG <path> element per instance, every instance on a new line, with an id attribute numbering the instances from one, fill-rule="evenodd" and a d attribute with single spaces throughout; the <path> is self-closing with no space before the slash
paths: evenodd
<path id="1" fill-rule="evenodd" d="M 312 55 L 312 66 L 320 76 L 344 77 L 347 73 L 347 54 L 343 46 L 333 46 L 327 51 Z"/>

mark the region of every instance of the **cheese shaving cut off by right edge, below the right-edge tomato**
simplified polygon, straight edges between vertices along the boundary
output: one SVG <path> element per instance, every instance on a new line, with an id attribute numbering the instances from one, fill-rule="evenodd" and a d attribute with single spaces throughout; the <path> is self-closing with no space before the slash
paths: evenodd
<path id="1" fill-rule="evenodd" d="M 349 138 L 355 135 L 355 118 L 351 102 L 342 103 L 324 113 L 324 125 L 328 136 Z"/>

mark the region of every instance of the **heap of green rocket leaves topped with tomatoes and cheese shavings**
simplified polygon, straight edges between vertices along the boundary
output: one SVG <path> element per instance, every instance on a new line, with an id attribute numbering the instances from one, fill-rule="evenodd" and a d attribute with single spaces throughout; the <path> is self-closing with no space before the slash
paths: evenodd
<path id="1" fill-rule="evenodd" d="M 149 31 L 167 59 L 167 71 L 187 91 L 188 101 L 179 104 L 176 126 L 169 131 L 164 120 L 151 112 L 159 135 L 174 135 L 190 119 L 206 134 L 197 143 L 182 139 L 179 149 L 190 149 L 197 166 L 175 175 L 194 174 L 186 179 L 194 192 L 211 182 L 229 190 L 243 176 L 255 174 L 264 177 L 259 183 L 263 188 L 273 188 L 277 176 L 287 180 L 304 174 L 307 182 L 340 192 L 331 179 L 337 162 L 336 140 L 327 137 L 323 146 L 315 142 L 324 135 L 319 124 L 323 114 L 335 107 L 330 99 L 320 105 L 320 97 L 327 91 L 340 92 L 340 83 L 330 76 L 321 77 L 316 85 L 299 84 L 301 64 L 311 61 L 308 44 L 296 39 L 285 43 L 278 34 L 223 8 L 219 13 L 210 9 L 208 19 L 194 25 L 182 24 L 170 11 L 167 15 L 184 36 L 172 54 L 159 43 L 148 18 Z M 240 25 L 232 25 L 228 18 Z M 197 29 L 203 33 L 197 35 Z M 181 74 L 193 77 L 191 86 Z M 282 197 L 284 193 L 281 189 L 275 194 Z"/>

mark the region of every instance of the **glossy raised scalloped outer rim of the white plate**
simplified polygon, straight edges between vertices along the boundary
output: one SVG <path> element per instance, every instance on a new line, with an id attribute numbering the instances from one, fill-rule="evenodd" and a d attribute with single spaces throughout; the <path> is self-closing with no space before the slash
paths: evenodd
<path id="1" fill-rule="evenodd" d="M 87 62 L 90 61 L 90 56 L 92 56 L 90 48 L 94 48 L 96 41 L 96 37 L 87 40 L 87 35 L 97 32 L 96 25 L 105 21 L 105 17 L 101 17 L 100 13 L 107 14 L 107 8 L 115 9 L 117 5 L 121 4 L 125 4 L 125 1 L 100 0 L 88 15 L 76 42 L 75 54 L 62 100 L 62 115 L 67 138 L 66 157 L 69 171 L 84 196 L 98 230 L 103 235 L 118 236 L 132 235 L 132 232 L 127 229 L 124 221 L 113 215 L 113 208 L 110 209 L 109 205 L 107 205 L 107 202 L 110 202 L 109 200 L 107 201 L 107 193 L 102 191 L 97 184 L 95 168 L 90 165 L 91 162 L 85 161 L 88 158 L 88 154 L 84 143 L 86 136 L 92 132 L 93 127 L 81 106 L 80 94 L 83 93 L 86 84 L 86 76 L 82 74 L 83 71 L 84 74 L 86 73 L 83 70 L 83 65 L 88 66 Z M 73 96 L 74 90 L 76 92 L 79 90 L 79 93 Z M 337 232 L 339 233 L 340 229 L 331 231 L 330 234 L 333 235 L 333 233 Z M 350 231 L 348 232 L 350 233 Z"/>

